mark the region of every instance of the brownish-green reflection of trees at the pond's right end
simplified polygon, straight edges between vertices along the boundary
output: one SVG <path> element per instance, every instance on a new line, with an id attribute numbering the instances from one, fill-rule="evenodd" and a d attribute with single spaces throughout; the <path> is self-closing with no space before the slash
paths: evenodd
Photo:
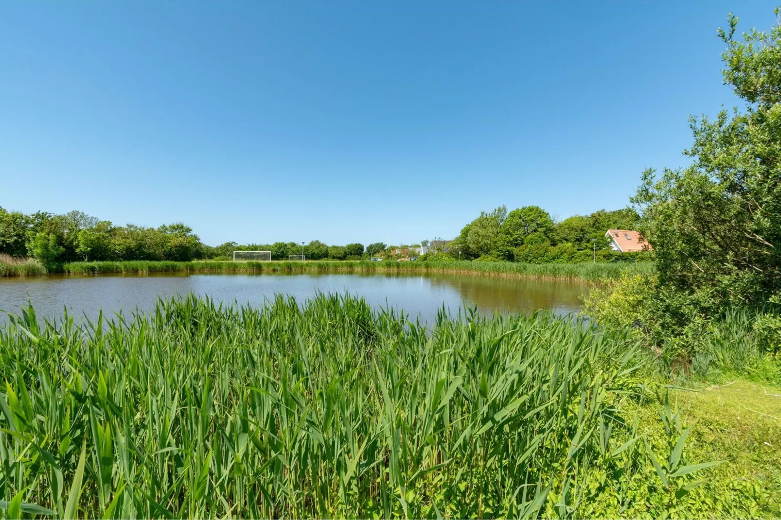
<path id="1" fill-rule="evenodd" d="M 489 276 L 425 276 L 433 287 L 458 290 L 467 305 L 507 312 L 537 309 L 580 308 L 580 295 L 588 291 L 584 283 L 568 280 L 524 280 Z"/>

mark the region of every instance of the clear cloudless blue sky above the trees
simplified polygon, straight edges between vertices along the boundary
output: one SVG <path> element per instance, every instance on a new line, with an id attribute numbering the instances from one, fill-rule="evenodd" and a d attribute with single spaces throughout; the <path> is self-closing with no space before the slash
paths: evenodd
<path id="1" fill-rule="evenodd" d="M 208 244 L 453 237 L 683 166 L 772 2 L 3 2 L 0 206 Z"/>

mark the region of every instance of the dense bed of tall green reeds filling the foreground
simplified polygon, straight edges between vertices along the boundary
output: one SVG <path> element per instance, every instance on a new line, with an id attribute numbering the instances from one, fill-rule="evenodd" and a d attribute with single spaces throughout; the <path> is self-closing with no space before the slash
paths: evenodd
<path id="1" fill-rule="evenodd" d="M 0 328 L 0 493 L 66 518 L 576 515 L 632 478 L 637 359 L 545 313 L 426 328 L 347 295 L 30 307 Z"/>

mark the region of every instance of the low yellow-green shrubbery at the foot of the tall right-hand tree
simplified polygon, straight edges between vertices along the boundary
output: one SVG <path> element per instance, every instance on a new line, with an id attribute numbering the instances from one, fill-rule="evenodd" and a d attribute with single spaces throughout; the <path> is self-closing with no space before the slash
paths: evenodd
<path id="1" fill-rule="evenodd" d="M 594 283 L 583 312 L 607 329 L 629 328 L 669 372 L 752 372 L 781 345 L 781 316 L 773 309 L 721 311 L 707 291 L 659 287 L 655 275 Z"/>

